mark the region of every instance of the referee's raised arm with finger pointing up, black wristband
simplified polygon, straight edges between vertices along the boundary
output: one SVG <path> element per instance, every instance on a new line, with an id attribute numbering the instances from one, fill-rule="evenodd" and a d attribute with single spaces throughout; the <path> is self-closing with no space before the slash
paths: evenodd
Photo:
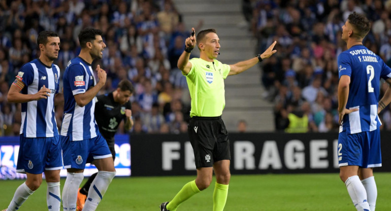
<path id="1" fill-rule="evenodd" d="M 178 68 L 182 71 L 184 75 L 187 75 L 190 72 L 191 69 L 191 63 L 189 62 L 190 53 L 196 47 L 197 41 L 196 41 L 196 31 L 194 28 L 191 28 L 191 36 L 186 38 L 185 41 L 185 49 L 183 50 L 183 53 L 178 59 Z"/>

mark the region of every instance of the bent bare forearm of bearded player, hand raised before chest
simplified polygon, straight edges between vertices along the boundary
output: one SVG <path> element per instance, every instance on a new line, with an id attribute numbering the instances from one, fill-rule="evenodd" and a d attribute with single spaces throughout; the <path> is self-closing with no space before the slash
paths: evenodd
<path id="1" fill-rule="evenodd" d="M 84 107 L 86 104 L 88 104 L 106 83 L 106 71 L 104 71 L 104 69 L 101 69 L 99 64 L 96 66 L 96 71 L 99 82 L 97 82 L 95 86 L 93 86 L 86 92 L 74 95 L 76 103 L 77 105 L 79 105 L 79 107 Z"/>

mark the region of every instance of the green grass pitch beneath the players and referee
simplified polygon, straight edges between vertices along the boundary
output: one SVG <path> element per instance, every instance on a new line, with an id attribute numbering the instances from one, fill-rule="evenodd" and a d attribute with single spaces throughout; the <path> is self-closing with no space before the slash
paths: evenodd
<path id="1" fill-rule="evenodd" d="M 391 173 L 375 173 L 377 211 L 391 210 Z M 97 210 L 157 211 L 192 177 L 115 178 Z M 83 184 L 86 180 L 83 181 Z M 0 181 L 0 210 L 7 207 L 14 191 L 23 181 Z M 212 210 L 211 186 L 185 201 L 178 211 Z M 64 180 L 61 180 L 61 191 Z M 20 207 L 47 210 L 46 183 Z M 232 175 L 225 211 L 236 210 L 343 210 L 354 211 L 345 185 L 338 173 Z"/>

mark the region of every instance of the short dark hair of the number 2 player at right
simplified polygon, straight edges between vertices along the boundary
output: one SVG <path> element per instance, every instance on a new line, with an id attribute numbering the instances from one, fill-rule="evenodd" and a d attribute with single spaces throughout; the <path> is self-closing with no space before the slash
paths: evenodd
<path id="1" fill-rule="evenodd" d="M 355 38 L 364 38 L 371 29 L 371 23 L 364 14 L 353 12 L 347 19 L 354 28 L 353 36 L 355 36 Z"/>

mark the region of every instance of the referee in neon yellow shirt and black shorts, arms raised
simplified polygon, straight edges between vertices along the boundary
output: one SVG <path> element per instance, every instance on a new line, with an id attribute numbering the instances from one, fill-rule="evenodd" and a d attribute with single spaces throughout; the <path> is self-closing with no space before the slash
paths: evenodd
<path id="1" fill-rule="evenodd" d="M 186 76 L 191 96 L 188 133 L 197 167 L 197 179 L 182 187 L 169 202 L 160 204 L 160 211 L 175 211 L 185 200 L 209 187 L 213 169 L 216 184 L 213 192 L 213 211 L 224 209 L 230 182 L 230 140 L 221 119 L 225 106 L 224 79 L 246 71 L 256 63 L 276 53 L 276 41 L 262 54 L 236 64 L 222 64 L 216 60 L 220 40 L 215 29 L 202 30 L 197 34 L 200 58 L 189 60 L 196 46 L 194 28 L 185 41 L 185 49 L 178 60 L 178 68 Z"/>

